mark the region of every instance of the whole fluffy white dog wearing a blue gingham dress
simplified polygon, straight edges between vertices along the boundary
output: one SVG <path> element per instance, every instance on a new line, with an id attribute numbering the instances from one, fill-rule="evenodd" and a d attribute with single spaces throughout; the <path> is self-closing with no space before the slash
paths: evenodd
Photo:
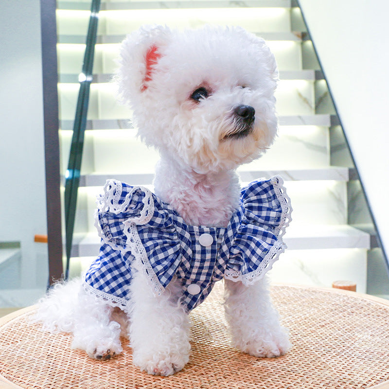
<path id="1" fill-rule="evenodd" d="M 264 277 L 285 248 L 289 200 L 280 177 L 241 190 L 235 172 L 276 136 L 277 79 L 264 40 L 241 28 L 127 36 L 115 80 L 159 151 L 155 195 L 107 181 L 100 256 L 82 286 L 58 284 L 40 301 L 46 329 L 72 332 L 97 359 L 121 353 L 127 336 L 136 366 L 173 374 L 189 360 L 188 312 L 224 279 L 233 346 L 258 357 L 290 349 Z"/>

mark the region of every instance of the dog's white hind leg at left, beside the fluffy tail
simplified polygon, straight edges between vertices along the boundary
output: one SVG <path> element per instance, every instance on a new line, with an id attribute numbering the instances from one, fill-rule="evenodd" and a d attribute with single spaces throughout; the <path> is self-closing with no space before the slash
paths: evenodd
<path id="1" fill-rule="evenodd" d="M 75 307 L 77 322 L 72 348 L 85 350 L 91 358 L 110 359 L 123 351 L 121 325 L 112 320 L 114 308 L 81 290 Z"/>

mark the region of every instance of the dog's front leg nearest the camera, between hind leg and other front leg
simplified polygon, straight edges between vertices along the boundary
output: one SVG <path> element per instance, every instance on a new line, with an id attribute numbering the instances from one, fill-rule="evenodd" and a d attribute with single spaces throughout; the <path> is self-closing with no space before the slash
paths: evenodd
<path id="1" fill-rule="evenodd" d="M 174 281 L 162 295 L 154 296 L 142 270 L 134 274 L 129 303 L 130 345 L 134 365 L 149 374 L 173 374 L 189 360 L 189 317 L 177 296 Z"/>

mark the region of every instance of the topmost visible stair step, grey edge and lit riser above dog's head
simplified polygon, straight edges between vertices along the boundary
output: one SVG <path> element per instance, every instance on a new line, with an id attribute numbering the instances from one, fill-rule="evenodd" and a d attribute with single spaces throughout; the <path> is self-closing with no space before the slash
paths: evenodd
<path id="1" fill-rule="evenodd" d="M 90 17 L 87 9 L 58 4 L 57 34 L 85 35 Z M 290 32 L 290 1 L 245 1 L 245 6 L 231 1 L 118 1 L 102 4 L 98 35 L 124 35 L 141 25 L 166 24 L 179 29 L 203 24 L 239 25 L 253 32 Z M 276 7 L 275 7 L 276 5 Z M 73 9 L 71 9 L 73 8 Z M 80 9 L 81 8 L 81 9 Z M 104 9 L 106 8 L 106 9 Z M 262 8 L 262 9 L 260 9 Z M 293 23 L 296 25 L 296 23 Z M 299 24 L 299 23 L 298 23 Z M 301 27 L 296 25 L 296 29 Z"/>

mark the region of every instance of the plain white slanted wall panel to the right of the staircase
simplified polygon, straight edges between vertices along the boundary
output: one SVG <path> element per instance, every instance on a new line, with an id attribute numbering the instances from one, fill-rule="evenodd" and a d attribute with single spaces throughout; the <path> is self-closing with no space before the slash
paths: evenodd
<path id="1" fill-rule="evenodd" d="M 389 255 L 389 2 L 300 5 Z"/>

